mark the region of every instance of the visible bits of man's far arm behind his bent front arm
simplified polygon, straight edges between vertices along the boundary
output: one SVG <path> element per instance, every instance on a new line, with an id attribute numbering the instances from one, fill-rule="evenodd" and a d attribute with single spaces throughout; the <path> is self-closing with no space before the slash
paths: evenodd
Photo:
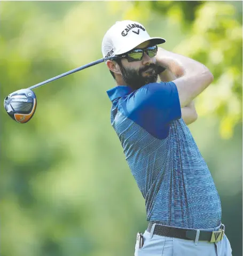
<path id="1" fill-rule="evenodd" d="M 160 73 L 159 77 L 160 77 L 160 81 L 162 82 L 170 82 L 178 78 L 168 69 Z M 197 120 L 198 114 L 197 114 L 197 111 L 195 110 L 195 105 L 193 101 L 191 101 L 189 104 L 181 108 L 181 110 L 182 110 L 182 119 L 184 120 L 186 125 L 190 125 L 195 120 Z"/>

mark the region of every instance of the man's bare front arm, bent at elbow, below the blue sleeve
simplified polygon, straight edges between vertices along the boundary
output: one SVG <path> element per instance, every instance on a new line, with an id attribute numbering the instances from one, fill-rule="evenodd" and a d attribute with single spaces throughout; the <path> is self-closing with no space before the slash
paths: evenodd
<path id="1" fill-rule="evenodd" d="M 209 69 L 193 59 L 158 48 L 158 65 L 168 69 L 176 77 L 176 84 L 181 108 L 190 104 L 214 80 Z"/>

